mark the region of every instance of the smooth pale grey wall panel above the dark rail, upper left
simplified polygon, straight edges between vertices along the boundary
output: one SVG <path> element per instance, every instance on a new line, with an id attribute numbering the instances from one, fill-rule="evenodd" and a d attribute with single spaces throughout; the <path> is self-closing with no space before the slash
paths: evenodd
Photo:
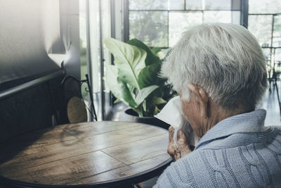
<path id="1" fill-rule="evenodd" d="M 59 38 L 58 3 L 0 0 L 0 92 L 60 70 L 48 57 Z"/>

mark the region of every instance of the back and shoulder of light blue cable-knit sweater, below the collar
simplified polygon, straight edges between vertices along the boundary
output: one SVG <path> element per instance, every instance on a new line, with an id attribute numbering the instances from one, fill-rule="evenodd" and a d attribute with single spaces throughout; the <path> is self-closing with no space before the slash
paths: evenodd
<path id="1" fill-rule="evenodd" d="M 171 163 L 159 182 L 164 187 L 259 187 L 281 184 L 281 129 L 270 127 L 269 137 L 246 145 L 201 148 Z M 249 170 L 250 169 L 250 170 Z M 268 169 L 268 170 L 266 170 Z M 260 172 L 264 180 L 259 178 Z M 269 177 L 272 177 L 271 179 Z"/>

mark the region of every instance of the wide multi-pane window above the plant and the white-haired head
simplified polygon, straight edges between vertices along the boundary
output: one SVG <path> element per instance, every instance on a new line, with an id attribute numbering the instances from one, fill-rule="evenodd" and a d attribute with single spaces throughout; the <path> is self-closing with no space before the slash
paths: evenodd
<path id="1" fill-rule="evenodd" d="M 124 29 L 129 30 L 129 39 L 140 39 L 148 46 L 174 46 L 185 27 L 195 24 L 240 24 L 240 0 L 127 1 L 129 28 Z"/>

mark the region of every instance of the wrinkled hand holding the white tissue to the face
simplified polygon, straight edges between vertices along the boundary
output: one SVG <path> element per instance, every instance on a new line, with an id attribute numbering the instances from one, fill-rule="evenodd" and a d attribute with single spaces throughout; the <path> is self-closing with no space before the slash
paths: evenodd
<path id="1" fill-rule="evenodd" d="M 178 160 L 188 153 L 191 152 L 190 146 L 186 143 L 186 138 L 183 130 L 178 130 L 177 132 L 177 142 L 174 142 L 174 127 L 169 127 L 169 145 L 167 152 L 174 159 L 174 161 Z M 176 146 L 178 144 L 178 146 Z"/>

